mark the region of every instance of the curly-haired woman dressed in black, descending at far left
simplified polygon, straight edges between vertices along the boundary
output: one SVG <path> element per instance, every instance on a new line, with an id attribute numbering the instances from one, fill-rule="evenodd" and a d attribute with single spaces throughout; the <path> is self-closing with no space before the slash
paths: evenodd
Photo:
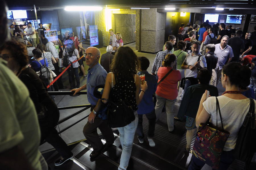
<path id="1" fill-rule="evenodd" d="M 44 83 L 32 68 L 28 67 L 28 54 L 26 45 L 17 41 L 7 41 L 0 48 L 3 59 L 7 60 L 7 66 L 18 76 L 28 88 L 32 99 L 41 130 L 41 144 L 46 140 L 61 154 L 62 158 L 55 162 L 61 165 L 73 157 L 65 141 L 59 137 L 55 126 L 59 121 L 59 110 L 55 102 L 46 91 Z M 28 122 L 29 123 L 29 122 Z"/>

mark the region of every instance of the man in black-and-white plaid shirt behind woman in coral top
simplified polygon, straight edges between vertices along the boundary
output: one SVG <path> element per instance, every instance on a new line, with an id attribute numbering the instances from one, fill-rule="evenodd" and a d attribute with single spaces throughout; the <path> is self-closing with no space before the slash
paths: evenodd
<path id="1" fill-rule="evenodd" d="M 164 60 L 164 57 L 167 54 L 172 54 L 171 50 L 173 49 L 173 44 L 170 41 L 166 41 L 165 43 L 165 51 L 159 51 L 156 54 L 156 58 L 154 60 L 152 69 L 151 69 L 151 73 L 152 75 L 156 75 L 155 72 L 157 73 L 158 68 L 162 67 L 162 62 Z M 175 65 L 173 67 L 174 70 L 177 70 L 177 59 L 175 60 Z"/>

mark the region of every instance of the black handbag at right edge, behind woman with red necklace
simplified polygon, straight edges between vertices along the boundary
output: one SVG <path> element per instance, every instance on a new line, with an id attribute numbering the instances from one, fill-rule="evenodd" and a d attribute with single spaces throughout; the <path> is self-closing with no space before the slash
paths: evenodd
<path id="1" fill-rule="evenodd" d="M 254 100 L 250 98 L 250 108 L 247 113 L 243 125 L 239 130 L 238 138 L 236 140 L 236 147 L 234 149 L 234 157 L 247 164 L 251 162 L 256 151 L 256 129 L 255 129 L 255 104 Z"/>

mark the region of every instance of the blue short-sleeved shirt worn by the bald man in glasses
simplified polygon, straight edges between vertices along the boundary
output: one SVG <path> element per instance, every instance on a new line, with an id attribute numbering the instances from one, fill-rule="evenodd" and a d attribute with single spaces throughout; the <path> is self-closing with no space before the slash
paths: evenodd
<path id="1" fill-rule="evenodd" d="M 91 105 L 96 106 L 98 102 L 98 98 L 96 98 L 93 95 L 93 91 L 96 86 L 98 85 L 105 85 L 106 77 L 107 77 L 107 72 L 104 70 L 104 68 L 97 63 L 93 68 L 88 69 L 88 74 L 87 74 L 87 98 L 88 101 Z M 107 119 L 106 109 L 104 109 L 104 112 L 98 112 L 98 116 L 102 118 L 103 120 Z"/>

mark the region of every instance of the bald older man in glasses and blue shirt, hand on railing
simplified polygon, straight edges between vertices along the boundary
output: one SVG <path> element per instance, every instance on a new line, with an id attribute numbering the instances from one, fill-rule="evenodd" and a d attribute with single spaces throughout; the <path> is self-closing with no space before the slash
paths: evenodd
<path id="1" fill-rule="evenodd" d="M 106 110 L 96 113 L 94 107 L 98 102 L 98 98 L 93 95 L 95 87 L 98 85 L 104 85 L 107 77 L 107 72 L 99 64 L 100 59 L 100 50 L 96 47 L 88 47 L 84 53 L 86 65 L 89 66 L 88 69 L 88 78 L 87 83 L 78 89 L 72 89 L 75 91 L 74 95 L 84 89 L 87 89 L 87 98 L 91 107 L 91 113 L 88 117 L 88 122 L 84 126 L 83 133 L 87 141 L 93 148 L 92 153 L 90 154 L 91 158 L 96 158 L 100 155 L 102 150 L 107 150 L 113 142 L 114 135 L 112 129 L 108 126 L 107 123 L 107 114 Z M 97 133 L 97 128 L 100 129 L 102 135 L 106 139 L 106 144 L 102 144 L 101 139 Z"/>

